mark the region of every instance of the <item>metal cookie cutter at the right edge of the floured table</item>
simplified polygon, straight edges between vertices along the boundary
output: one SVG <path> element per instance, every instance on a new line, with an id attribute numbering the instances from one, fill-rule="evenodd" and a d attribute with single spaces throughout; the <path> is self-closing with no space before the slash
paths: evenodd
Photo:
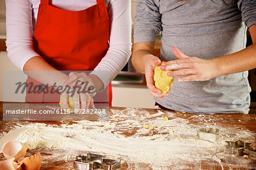
<path id="1" fill-rule="evenodd" d="M 224 152 L 226 154 L 234 154 L 236 156 L 249 155 L 252 143 L 243 142 L 242 140 L 226 141 L 226 146 L 224 146 Z"/>

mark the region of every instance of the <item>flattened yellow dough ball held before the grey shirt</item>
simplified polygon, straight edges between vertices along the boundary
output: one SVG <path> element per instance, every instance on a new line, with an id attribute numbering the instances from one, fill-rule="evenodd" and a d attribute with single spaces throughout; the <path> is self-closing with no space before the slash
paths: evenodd
<path id="1" fill-rule="evenodd" d="M 167 76 L 167 73 L 172 71 L 162 71 L 160 67 L 161 66 L 155 67 L 154 82 L 155 87 L 161 90 L 162 94 L 165 94 L 169 91 L 170 87 L 172 86 L 172 83 L 174 82 L 174 77 Z"/>

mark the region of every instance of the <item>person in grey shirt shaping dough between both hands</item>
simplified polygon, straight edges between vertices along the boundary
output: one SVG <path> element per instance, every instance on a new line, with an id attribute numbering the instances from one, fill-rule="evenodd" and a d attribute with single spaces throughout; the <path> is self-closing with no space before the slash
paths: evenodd
<path id="1" fill-rule="evenodd" d="M 249 28 L 253 45 L 245 48 Z M 152 80 L 161 35 L 162 70 L 175 70 L 168 94 Z M 247 74 L 256 67 L 255 0 L 137 0 L 134 67 L 159 105 L 191 113 L 248 113 Z M 176 46 L 176 47 L 174 47 Z"/>

